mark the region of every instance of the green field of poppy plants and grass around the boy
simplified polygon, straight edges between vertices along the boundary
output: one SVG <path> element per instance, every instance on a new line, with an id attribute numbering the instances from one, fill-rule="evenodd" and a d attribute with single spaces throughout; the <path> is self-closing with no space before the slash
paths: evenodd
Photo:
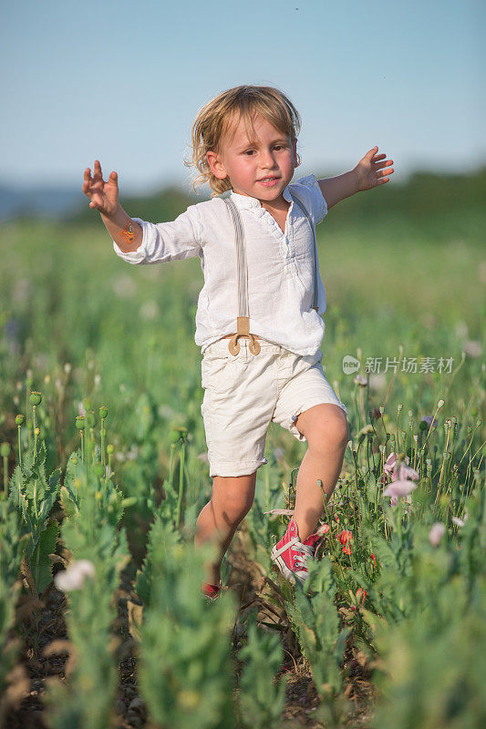
<path id="1" fill-rule="evenodd" d="M 14 673 L 2 678 L 2 718 L 9 723 L 5 725 L 67 726 L 72 721 L 69 726 L 384 728 L 393 717 L 394 725 L 405 729 L 411 725 L 412 715 L 416 717 L 413 725 L 418 727 L 480 725 L 474 722 L 484 718 L 486 709 L 479 698 L 479 683 L 466 667 L 471 661 L 481 664 L 479 654 L 484 652 L 484 629 L 475 628 L 474 619 L 481 614 L 486 596 L 481 451 L 486 431 L 486 221 L 477 200 L 478 186 L 474 187 L 469 179 L 452 181 L 454 184 L 443 180 L 440 194 L 437 185 L 434 187 L 425 176 L 421 194 L 410 185 L 401 191 L 384 189 L 357 196 L 356 203 L 346 200 L 330 210 L 317 229 L 320 273 L 327 301 L 323 366 L 327 379 L 349 409 L 354 447 L 346 449 L 332 507 L 333 513 L 339 515 L 340 527 L 353 531 L 356 551 L 349 559 L 339 557 L 332 544 L 326 542 L 326 554 L 330 557 L 317 562 L 321 571 L 316 570 L 313 577 L 314 598 L 305 598 L 304 594 L 293 597 L 283 580 L 277 579 L 269 561 L 270 539 L 280 533 L 284 519 L 266 519 L 261 512 L 264 507 L 291 505 L 291 472 L 299 466 L 306 445 L 271 424 L 265 452 L 269 463 L 258 471 L 255 503 L 223 563 L 223 577 L 231 589 L 222 596 L 221 610 L 217 609 L 220 613 L 215 605 L 211 606 L 212 622 L 207 630 L 213 631 L 213 637 L 201 653 L 202 666 L 207 667 L 210 656 L 212 661 L 222 661 L 226 648 L 221 638 L 227 635 L 233 657 L 229 665 L 238 676 L 238 687 L 214 684 L 213 704 L 204 708 L 204 715 L 213 719 L 204 721 L 200 714 L 202 696 L 212 685 L 212 677 L 202 669 L 197 678 L 191 673 L 191 662 L 187 674 L 183 674 L 182 662 L 172 665 L 167 659 L 160 669 L 160 683 L 152 681 L 153 672 L 159 671 L 156 666 L 161 652 L 166 657 L 180 650 L 183 653 L 182 642 L 171 642 L 169 633 L 162 640 L 154 626 L 166 621 L 172 626 L 173 635 L 180 634 L 181 641 L 192 644 L 196 641 L 194 636 L 202 634 L 197 629 L 198 621 L 206 615 L 201 604 L 192 616 L 196 626 L 193 635 L 184 618 L 178 622 L 184 595 L 196 590 L 199 574 L 196 568 L 191 572 L 190 561 L 184 561 L 191 543 L 188 525 L 211 497 L 212 481 L 204 457 L 207 448 L 200 410 L 201 354 L 193 341 L 195 308 L 203 282 L 200 262 L 192 259 L 130 266 L 113 252 L 108 232 L 92 211 L 90 216 L 83 213 L 72 221 L 58 223 L 4 223 L 0 230 L 0 441 L 11 447 L 7 456 L 2 454 L 10 488 L 16 484 L 19 473 L 15 472 L 17 414 L 26 416 L 22 449 L 27 454 L 35 448 L 29 402 L 32 391 L 42 393 L 36 425 L 38 442 L 42 440 L 46 447 L 46 474 L 56 468 L 64 471 L 75 453 L 75 459 L 83 460 L 76 417 L 88 410 L 98 414 L 100 406 L 108 407 L 106 443 L 113 450 L 111 471 L 108 475 L 103 471 L 103 488 L 96 486 L 98 476 L 93 475 L 94 470 L 91 472 L 87 455 L 87 472 L 79 471 L 78 476 L 85 496 L 76 501 L 78 496 L 71 495 L 76 508 L 70 510 L 67 506 L 67 492 L 62 498 L 61 492 L 57 494 L 42 529 L 50 524 L 48 529 L 54 541 L 49 545 L 49 553 L 57 554 L 59 559 L 48 562 L 46 557 L 47 572 L 39 571 L 43 548 L 39 542 L 36 551 L 33 542 L 32 559 L 37 556 L 37 572 L 33 562 L 27 561 L 34 578 L 37 575 L 41 580 L 43 575 L 36 590 L 26 580 L 26 560 L 21 562 L 20 552 L 18 575 L 22 582 L 14 580 L 5 559 L 0 562 L 5 568 L 4 595 L 10 595 L 12 603 L 10 612 L 5 609 L 1 637 L 4 644 L 15 637 L 19 641 L 9 659 L 9 670 Z M 184 200 L 170 199 L 165 204 L 167 207 L 160 210 L 172 210 L 173 218 L 181 206 L 183 209 Z M 168 213 L 157 217 L 157 200 L 145 201 L 144 206 L 140 203 L 138 211 L 137 201 L 130 200 L 125 208 L 148 220 L 171 219 Z M 382 358 L 380 372 L 372 369 L 369 373 L 367 388 L 357 385 L 356 374 L 343 371 L 346 355 L 357 357 L 361 375 L 365 375 L 367 359 Z M 390 367 L 385 371 L 387 357 L 399 360 L 395 376 Z M 403 358 L 412 357 L 418 358 L 419 369 L 422 358 L 431 358 L 429 372 L 402 371 Z M 440 358 L 444 372 L 439 372 Z M 89 402 L 83 407 L 85 398 Z M 444 403 L 438 409 L 440 400 Z M 381 414 L 377 409 L 380 406 L 384 408 Z M 398 409 L 401 419 L 397 427 Z M 408 411 L 413 412 L 410 415 Z M 420 421 L 423 416 L 433 415 L 438 418 L 438 427 L 430 431 L 429 441 L 424 442 L 428 431 L 420 430 Z M 176 431 L 177 428 L 182 430 Z M 395 441 L 387 439 L 386 433 L 390 432 L 395 434 Z M 87 444 L 88 437 L 86 431 Z M 419 467 L 411 514 L 404 510 L 402 501 L 395 511 L 388 504 L 381 510 L 376 508 L 378 496 L 381 501 L 386 500 L 379 488 L 384 478 L 383 463 L 394 450 L 393 443 L 397 453 L 403 449 L 410 457 L 410 465 Z M 443 457 L 443 452 L 448 455 Z M 93 450 L 93 468 L 94 461 L 101 457 L 104 467 L 105 453 L 98 445 Z M 26 502 L 30 504 L 29 476 L 24 476 Z M 67 485 L 71 483 L 69 478 L 66 472 L 63 482 Z M 97 488 L 101 494 L 115 494 L 113 504 L 118 503 L 117 498 L 132 499 L 125 500 L 118 521 L 113 521 L 108 510 L 105 520 L 99 517 L 99 529 L 109 529 L 111 525 L 112 539 L 120 539 L 118 551 L 113 552 L 115 556 L 98 553 L 84 532 L 82 539 L 80 536 L 83 519 L 95 514 L 96 509 L 90 510 L 89 494 L 98 493 Z M 12 494 L 11 491 L 11 497 Z M 20 509 L 18 523 L 8 527 L 14 531 L 7 530 L 5 515 L 15 510 L 15 504 L 12 498 L 5 498 L 4 491 L 2 503 L 8 505 L 3 517 L 4 531 L 0 532 L 4 554 L 5 544 L 12 541 L 13 534 L 32 531 L 26 512 Z M 182 499 L 181 523 L 174 523 L 172 498 Z M 458 527 L 452 517 L 463 519 L 465 511 L 467 520 Z M 447 536 L 440 546 L 434 547 L 429 529 L 437 521 L 445 524 Z M 127 545 L 120 534 L 126 534 Z M 167 539 L 171 545 L 164 553 L 157 550 L 160 539 Z M 368 569 L 370 553 L 377 555 L 381 563 L 379 574 Z M 83 639 L 87 656 L 89 640 L 93 642 L 93 651 L 100 641 L 106 643 L 107 655 L 103 660 L 114 672 L 111 688 L 107 689 L 108 708 L 102 708 L 101 699 L 97 699 L 98 703 L 93 701 L 98 706 L 96 719 L 95 714 L 89 714 L 88 707 L 100 690 L 97 685 L 86 683 L 88 673 L 83 673 L 83 643 L 79 638 L 87 608 L 82 602 L 82 590 L 65 597 L 55 588 L 52 578 L 61 569 L 61 558 L 65 560 L 63 567 L 68 561 L 79 559 L 91 560 L 100 570 L 109 560 L 118 565 L 119 571 L 114 567 L 115 571 L 106 578 L 116 600 L 112 614 L 106 606 L 105 633 L 93 629 L 91 637 L 85 635 Z M 185 570 L 186 580 L 181 578 L 181 594 L 176 590 L 177 597 L 173 597 L 177 610 L 160 597 L 161 591 L 156 594 L 155 586 L 147 591 L 148 570 L 159 575 L 160 584 L 167 587 L 171 583 L 164 580 L 170 579 L 171 564 L 176 562 L 185 565 L 181 570 Z M 15 564 L 13 556 L 9 564 Z M 137 583 L 140 572 L 146 581 L 139 577 Z M 178 579 L 177 574 L 173 573 L 174 580 Z M 354 597 L 361 584 L 357 574 L 367 580 L 366 606 L 357 605 Z M 436 597 L 424 597 L 420 590 L 425 584 L 435 585 Z M 460 601 L 458 595 L 466 593 L 469 601 L 462 605 L 461 615 L 455 611 L 453 618 L 450 601 Z M 22 612 L 22 599 L 39 596 L 40 603 Z M 98 600 L 98 596 L 93 600 Z M 140 611 L 143 609 L 145 622 L 133 617 L 137 613 L 134 605 Z M 102 610 L 99 608 L 100 615 L 104 614 Z M 252 610 L 257 623 L 254 629 L 249 617 Z M 318 622 L 322 611 L 335 615 L 334 627 L 330 622 Z M 299 630 L 299 616 L 302 619 L 303 615 L 307 616 L 308 626 L 315 618 L 314 631 L 321 639 L 317 642 L 318 650 L 315 639 Z M 419 615 L 425 616 L 423 621 L 418 622 Z M 114 628 L 115 623 L 110 621 L 116 617 L 119 622 Z M 47 625 L 48 619 L 50 628 L 40 638 L 39 625 Z M 203 620 L 206 624 L 209 619 L 206 616 Z M 269 622 L 278 629 L 271 630 Z M 386 623 L 387 631 L 380 628 L 381 622 Z M 225 633 L 227 624 L 231 624 L 231 631 Z M 345 628 L 350 632 L 341 632 L 343 643 L 336 643 L 339 631 Z M 115 650 L 109 644 L 109 635 L 114 634 L 119 635 L 124 649 Z M 67 668 L 66 656 L 53 663 L 43 653 L 61 638 L 77 646 L 75 669 Z M 428 652 L 424 649 L 426 642 Z M 336 645 L 341 645 L 337 657 Z M 446 645 L 455 646 L 460 653 L 455 667 L 450 654 L 444 658 Z M 243 646 L 246 653 L 238 659 Z M 265 655 L 273 658 L 266 660 Z M 97 660 L 101 660 L 99 656 Z M 86 661 L 88 665 L 88 657 Z M 15 673 L 16 666 L 20 673 Z M 284 682 L 277 684 L 273 680 L 284 668 L 286 690 L 278 694 L 278 690 L 284 690 Z M 435 678 L 430 678 L 429 672 L 435 672 Z M 62 691 L 66 693 L 56 693 L 61 688 L 56 689 L 54 684 L 50 688 L 47 678 L 55 673 L 62 679 Z M 481 671 L 475 673 L 481 675 Z M 269 713 L 253 690 L 251 676 L 256 674 L 267 682 L 268 696 L 274 696 L 274 714 Z M 19 676 L 24 677 L 25 683 L 18 683 Z M 419 685 L 421 680 L 429 682 L 425 704 L 423 697 L 427 698 L 427 694 Z M 21 686 L 17 692 L 13 691 L 14 683 Z M 239 697 L 237 719 L 231 718 L 233 710 L 227 703 L 232 690 Z M 454 708 L 447 704 L 451 692 L 456 692 Z M 66 703 L 65 714 L 56 710 L 61 703 Z M 171 713 L 167 707 L 172 705 L 176 708 Z M 46 724 L 39 716 L 35 718 L 36 711 Z M 86 721 L 88 724 L 83 724 Z"/>

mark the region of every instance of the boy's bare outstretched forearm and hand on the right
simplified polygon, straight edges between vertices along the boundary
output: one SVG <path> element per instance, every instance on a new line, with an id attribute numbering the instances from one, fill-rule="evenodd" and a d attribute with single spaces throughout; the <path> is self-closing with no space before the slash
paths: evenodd
<path id="1" fill-rule="evenodd" d="M 377 147 L 369 149 L 363 159 L 360 159 L 355 169 L 345 172 L 337 177 L 329 177 L 325 180 L 317 180 L 321 192 L 327 203 L 327 210 L 336 205 L 336 202 L 350 198 L 356 192 L 371 190 L 377 185 L 383 185 L 393 174 L 393 168 L 387 165 L 393 164 L 393 159 L 385 159 L 386 154 L 377 154 Z M 387 169 L 384 169 L 387 168 Z"/>

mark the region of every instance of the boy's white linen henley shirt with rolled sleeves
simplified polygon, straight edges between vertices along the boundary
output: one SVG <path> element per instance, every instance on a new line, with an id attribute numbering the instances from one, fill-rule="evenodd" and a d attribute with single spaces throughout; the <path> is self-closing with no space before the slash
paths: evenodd
<path id="1" fill-rule="evenodd" d="M 290 202 L 282 231 L 260 200 L 230 196 L 240 212 L 248 265 L 250 332 L 295 354 L 316 354 L 324 337 L 326 291 L 317 275 L 318 311 L 314 295 L 313 234 L 292 199 L 295 190 L 315 225 L 327 214 L 327 203 L 314 175 L 284 189 Z M 115 252 L 129 263 L 164 263 L 199 256 L 204 285 L 196 312 L 195 343 L 202 354 L 224 334 L 236 332 L 238 287 L 233 219 L 224 200 L 214 197 L 190 205 L 174 221 L 152 223 L 140 218 L 143 239 L 134 252 Z M 317 268 L 318 271 L 318 268 Z"/>

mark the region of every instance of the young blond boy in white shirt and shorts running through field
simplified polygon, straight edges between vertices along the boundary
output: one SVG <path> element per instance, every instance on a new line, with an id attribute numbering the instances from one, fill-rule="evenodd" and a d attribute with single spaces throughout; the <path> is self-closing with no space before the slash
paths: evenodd
<path id="1" fill-rule="evenodd" d="M 98 160 L 83 191 L 99 210 L 115 252 L 130 263 L 199 256 L 204 286 L 195 343 L 202 347 L 202 416 L 212 498 L 199 515 L 195 544 L 215 540 L 221 559 L 207 565 L 202 589 L 221 590 L 220 567 L 235 530 L 252 507 L 256 471 L 266 463 L 265 436 L 280 423 L 308 448 L 299 468 L 295 512 L 272 550 L 287 580 L 304 583 L 306 560 L 319 540 L 327 500 L 343 464 L 347 408 L 322 368 L 326 293 L 318 275 L 315 226 L 327 210 L 393 173 L 369 149 L 343 175 L 291 184 L 300 164 L 299 115 L 273 87 L 229 89 L 201 109 L 192 127 L 194 182 L 209 182 L 212 199 L 191 205 L 175 221 L 153 224 L 119 204 L 118 176 L 105 183 Z M 229 190 L 227 200 L 217 197 Z"/>

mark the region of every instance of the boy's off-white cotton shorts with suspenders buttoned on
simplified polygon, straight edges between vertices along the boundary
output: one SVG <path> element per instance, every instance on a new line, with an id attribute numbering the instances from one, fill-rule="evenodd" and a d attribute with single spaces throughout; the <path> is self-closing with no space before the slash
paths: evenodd
<path id="1" fill-rule="evenodd" d="M 322 350 L 302 355 L 257 341 L 258 354 L 250 352 L 250 340 L 242 337 L 236 356 L 228 349 L 229 339 L 213 342 L 202 355 L 201 413 L 211 477 L 243 476 L 263 466 L 270 422 L 305 441 L 295 420 L 309 407 L 333 403 L 347 415 L 326 380 Z"/>

